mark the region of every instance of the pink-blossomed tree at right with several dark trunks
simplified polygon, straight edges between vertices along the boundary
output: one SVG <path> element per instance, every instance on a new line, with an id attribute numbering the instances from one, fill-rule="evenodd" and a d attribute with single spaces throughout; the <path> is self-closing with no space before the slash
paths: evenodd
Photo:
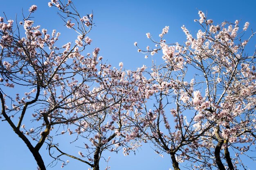
<path id="1" fill-rule="evenodd" d="M 155 49 L 142 50 L 135 42 L 145 58 L 162 51 L 164 63 L 148 71 L 153 85 L 145 95 L 153 95 L 154 104 L 144 104 L 133 121 L 155 152 L 171 156 L 175 170 L 182 162 L 190 169 L 246 167 L 240 155 L 255 144 L 256 53 L 245 50 L 254 32 L 244 38 L 249 22 L 239 31 L 238 20 L 213 24 L 198 14 L 196 38 L 181 27 L 184 44 L 166 43 L 168 26 L 159 41 L 146 34 Z"/>

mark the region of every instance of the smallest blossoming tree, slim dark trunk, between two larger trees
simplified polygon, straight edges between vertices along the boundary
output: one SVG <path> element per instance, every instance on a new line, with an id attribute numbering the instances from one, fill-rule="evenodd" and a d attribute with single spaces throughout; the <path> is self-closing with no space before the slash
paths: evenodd
<path id="1" fill-rule="evenodd" d="M 84 144 L 78 146 L 79 156 L 69 154 L 61 149 L 63 148 L 61 141 L 58 141 L 58 145 L 54 144 L 52 140 L 48 142 L 50 156 L 54 160 L 62 161 L 61 167 L 67 164 L 62 158 L 65 155 L 88 164 L 93 170 L 99 170 L 100 160 L 105 159 L 108 162 L 110 159 L 110 157 L 108 159 L 103 157 L 103 152 L 106 150 L 118 152 L 123 149 L 124 155 L 129 155 L 130 151 L 135 152 L 140 146 L 139 129 L 127 117 L 130 117 L 130 110 L 145 102 L 141 91 L 146 88 L 147 80 L 142 75 L 146 67 L 138 68 L 137 71 L 121 71 L 123 64 L 120 63 L 119 66 L 119 70 L 117 68 L 108 70 L 108 74 L 115 79 L 103 77 L 103 81 L 99 82 L 100 93 L 94 94 L 102 101 L 95 104 L 94 107 L 106 109 L 72 122 L 73 126 L 63 126 L 64 130 L 60 132 L 60 135 L 65 133 L 74 135 L 75 141 L 83 141 Z M 94 90 L 99 91 L 97 88 Z M 127 93 L 129 95 L 125 95 Z M 76 95 L 80 97 L 81 92 Z M 117 96 L 121 97 L 119 102 L 107 108 L 106 106 L 112 103 Z M 76 112 L 85 113 L 87 107 L 86 104 L 78 106 Z M 106 169 L 109 168 L 109 166 L 106 167 Z"/>

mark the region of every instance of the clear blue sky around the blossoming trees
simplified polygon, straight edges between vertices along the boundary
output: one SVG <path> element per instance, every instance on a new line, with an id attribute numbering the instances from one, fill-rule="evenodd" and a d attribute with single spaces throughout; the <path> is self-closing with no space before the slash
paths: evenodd
<path id="1" fill-rule="evenodd" d="M 27 14 L 29 7 L 36 4 L 38 10 L 33 15 L 36 24 L 40 24 L 41 28 L 47 30 L 56 29 L 61 32 L 63 44 L 74 41 L 77 35 L 63 26 L 62 20 L 56 15 L 56 9 L 49 8 L 47 2 L 49 0 L 2 0 L 0 16 L 5 12 L 7 18 L 14 20 L 17 13 L 18 18 L 21 18 L 22 9 Z M 99 47 L 100 55 L 105 61 L 108 60 L 107 62 L 112 66 L 118 66 L 119 62 L 123 62 L 126 69 L 135 69 L 143 64 L 151 65 L 151 58 L 144 59 L 144 55 L 138 53 L 133 45 L 134 42 L 138 42 L 140 47 L 150 44 L 146 38 L 148 32 L 157 38 L 164 26 L 170 26 L 165 38 L 169 43 L 182 43 L 186 40 L 180 28 L 182 25 L 195 35 L 198 24 L 193 20 L 199 18 L 198 10 L 207 13 L 207 17 L 213 19 L 214 23 L 241 20 L 240 26 L 243 26 L 248 21 L 249 28 L 256 30 L 256 1 L 254 0 L 73 0 L 73 2 L 82 15 L 92 11 L 94 13 L 96 26 L 88 35 L 92 39 L 92 44 L 85 52 L 90 53 L 92 49 Z M 253 40 L 255 41 L 255 38 Z M 155 55 L 153 59 L 157 57 L 161 58 L 162 55 Z M 7 122 L 1 121 L 0 129 L 0 170 L 35 170 L 36 162 L 31 153 Z M 47 165 L 49 159 L 46 154 L 46 150 L 42 150 Z M 149 145 L 139 149 L 136 155 L 124 157 L 121 153 L 120 155 L 111 153 L 110 156 L 111 170 L 169 170 L 171 168 L 170 157 L 168 155 L 164 158 L 159 157 Z M 70 164 L 65 166 L 65 170 L 88 169 L 84 163 L 69 160 Z M 61 169 L 60 166 L 61 164 L 58 164 L 49 169 Z M 104 169 L 103 166 L 102 169 Z"/>

